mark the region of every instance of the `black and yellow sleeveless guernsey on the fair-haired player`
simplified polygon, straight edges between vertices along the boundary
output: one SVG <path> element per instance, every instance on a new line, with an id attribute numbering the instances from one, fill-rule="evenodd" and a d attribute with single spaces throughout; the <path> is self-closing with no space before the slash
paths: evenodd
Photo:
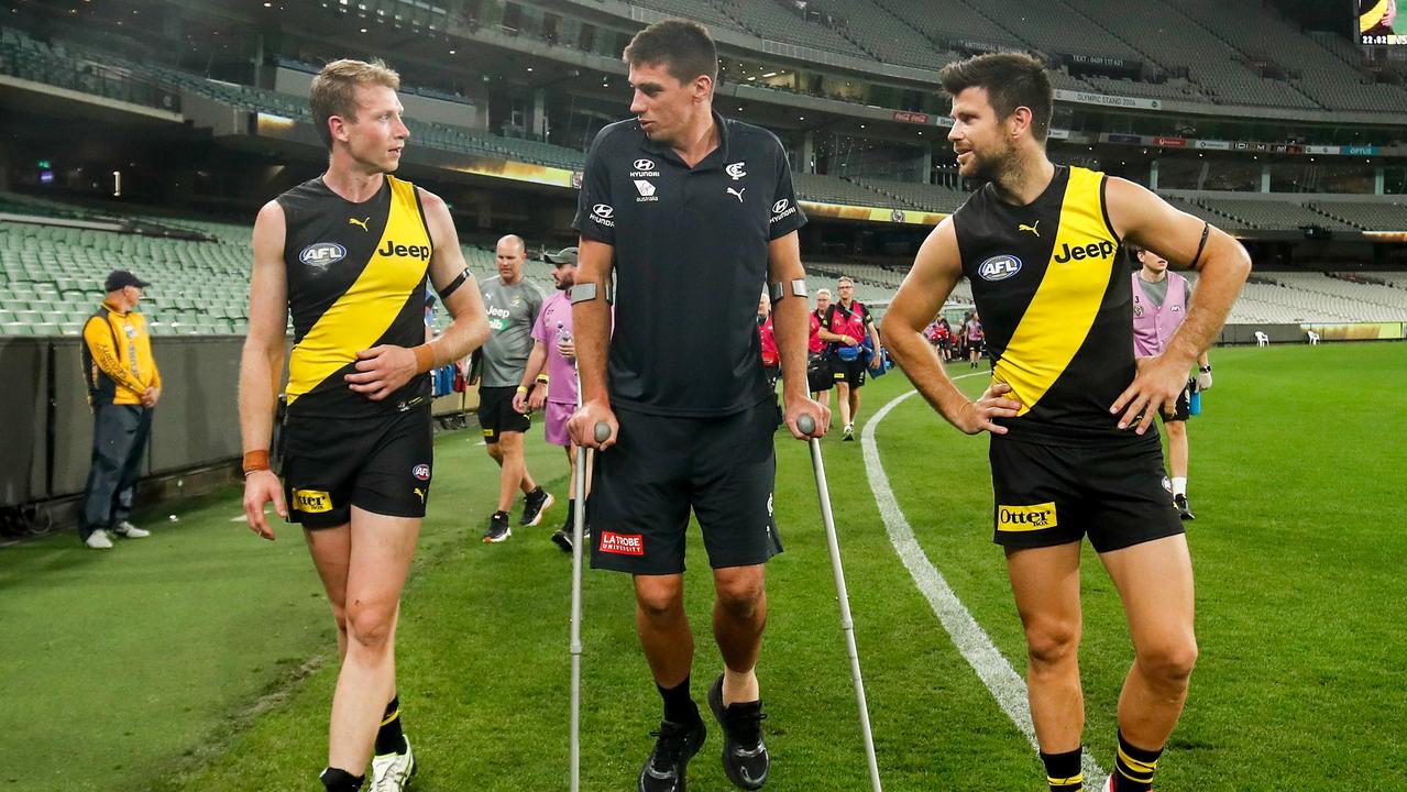
<path id="1" fill-rule="evenodd" d="M 432 245 L 415 186 L 386 176 L 376 197 L 353 204 L 318 177 L 277 200 L 294 331 L 288 415 L 356 418 L 428 401 L 429 376 L 380 402 L 343 380 L 363 349 L 425 343 Z"/>

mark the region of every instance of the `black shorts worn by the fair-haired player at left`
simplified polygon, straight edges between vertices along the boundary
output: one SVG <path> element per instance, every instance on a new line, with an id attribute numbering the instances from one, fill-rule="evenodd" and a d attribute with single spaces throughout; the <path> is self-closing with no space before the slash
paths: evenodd
<path id="1" fill-rule="evenodd" d="M 370 418 L 290 416 L 283 426 L 283 492 L 288 522 L 307 529 L 352 519 L 352 506 L 424 518 L 433 468 L 426 400 Z"/>

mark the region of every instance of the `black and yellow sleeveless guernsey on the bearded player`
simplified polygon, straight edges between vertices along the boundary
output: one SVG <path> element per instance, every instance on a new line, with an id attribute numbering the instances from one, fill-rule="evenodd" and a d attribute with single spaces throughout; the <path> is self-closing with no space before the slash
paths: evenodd
<path id="1" fill-rule="evenodd" d="M 953 215 L 962 273 L 992 353 L 992 378 L 1021 402 L 1012 439 L 1157 442 L 1117 429 L 1109 405 L 1134 377 L 1128 264 L 1104 207 L 1103 173 L 1055 166 L 1024 207 L 986 184 Z"/>

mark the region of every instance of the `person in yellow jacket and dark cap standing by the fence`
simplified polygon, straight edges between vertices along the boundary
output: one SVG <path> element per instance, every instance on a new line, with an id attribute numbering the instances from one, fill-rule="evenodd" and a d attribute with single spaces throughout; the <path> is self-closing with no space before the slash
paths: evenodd
<path id="1" fill-rule="evenodd" d="M 152 357 L 146 318 L 136 312 L 148 283 L 113 270 L 107 298 L 83 325 L 83 371 L 93 409 L 93 463 L 89 467 L 79 536 L 94 550 L 113 547 L 110 535 L 151 536 L 127 518 L 152 430 L 152 408 L 162 397 L 162 376 Z"/>

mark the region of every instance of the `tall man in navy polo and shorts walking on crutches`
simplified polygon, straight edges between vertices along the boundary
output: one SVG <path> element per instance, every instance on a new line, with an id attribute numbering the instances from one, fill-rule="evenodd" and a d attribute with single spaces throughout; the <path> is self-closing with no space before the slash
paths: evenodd
<path id="1" fill-rule="evenodd" d="M 574 226 L 573 290 L 582 408 L 571 437 L 601 449 L 591 492 L 591 564 L 635 580 L 636 629 L 663 699 L 640 792 L 680 792 L 702 747 L 689 694 L 694 634 L 684 611 L 684 535 L 698 516 L 713 567 L 713 637 L 723 674 L 708 692 L 723 769 L 767 782 L 757 675 L 767 620 L 774 433 L 784 418 L 763 376 L 757 294 L 781 288 L 775 332 L 785 422 L 819 432 L 806 394 L 806 294 L 787 151 L 771 132 L 713 113 L 718 52 L 696 23 L 668 20 L 625 51 L 635 118 L 605 127 L 587 155 Z M 606 304 L 612 273 L 615 329 Z M 708 295 L 706 298 L 704 295 Z M 597 440 L 597 423 L 609 433 Z"/>

